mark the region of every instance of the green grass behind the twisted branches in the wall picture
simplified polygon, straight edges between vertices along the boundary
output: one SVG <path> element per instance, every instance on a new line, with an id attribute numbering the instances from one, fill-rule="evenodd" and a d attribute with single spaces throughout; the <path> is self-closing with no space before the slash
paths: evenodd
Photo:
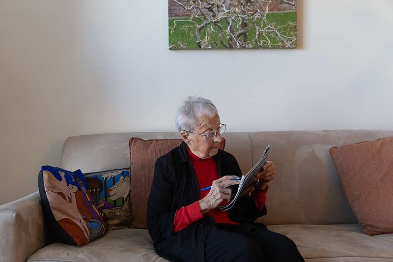
<path id="1" fill-rule="evenodd" d="M 189 21 L 187 21 L 189 20 Z M 178 17 L 178 18 L 169 18 L 169 48 L 170 49 L 182 49 L 187 47 L 187 49 L 198 49 L 197 46 L 197 38 L 195 35 L 195 23 L 190 21 L 191 19 L 188 17 Z M 284 26 L 288 22 L 296 23 L 296 12 L 278 12 L 278 13 L 269 13 L 267 15 L 267 20 L 269 23 L 274 23 L 276 26 Z M 193 21 L 197 22 L 196 19 Z M 261 24 L 261 21 L 258 21 L 257 24 Z M 176 23 L 176 27 L 175 26 Z M 200 23 L 200 22 L 199 22 Z M 226 21 L 221 21 L 220 24 L 226 28 Z M 172 30 L 174 28 L 174 30 Z M 219 33 L 220 29 L 217 26 L 213 27 L 214 32 L 210 35 L 212 39 L 213 48 L 225 48 L 220 44 Z M 201 30 L 201 38 L 206 36 L 207 29 Z M 288 34 L 296 37 L 296 28 L 288 28 L 283 30 L 284 34 Z M 271 41 L 271 44 L 274 46 L 277 44 L 277 40 L 272 36 L 267 36 Z M 248 33 L 248 39 L 251 41 L 255 38 L 255 29 L 250 29 Z M 253 46 L 252 48 L 256 48 Z"/>

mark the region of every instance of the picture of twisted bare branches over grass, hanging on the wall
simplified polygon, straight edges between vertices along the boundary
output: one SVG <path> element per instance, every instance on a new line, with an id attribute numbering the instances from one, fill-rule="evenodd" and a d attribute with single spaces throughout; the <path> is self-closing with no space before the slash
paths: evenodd
<path id="1" fill-rule="evenodd" d="M 296 0 L 168 0 L 169 49 L 297 47 Z"/>

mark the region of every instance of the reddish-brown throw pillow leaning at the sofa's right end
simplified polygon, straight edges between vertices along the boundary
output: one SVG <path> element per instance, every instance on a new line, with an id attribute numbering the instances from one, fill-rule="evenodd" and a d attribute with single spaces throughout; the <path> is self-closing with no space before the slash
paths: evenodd
<path id="1" fill-rule="evenodd" d="M 393 233 L 393 137 L 332 147 L 330 154 L 363 232 Z"/>

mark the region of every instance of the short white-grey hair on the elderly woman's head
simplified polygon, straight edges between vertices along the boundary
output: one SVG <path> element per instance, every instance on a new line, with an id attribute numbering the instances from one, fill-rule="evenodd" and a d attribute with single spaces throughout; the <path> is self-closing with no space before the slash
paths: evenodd
<path id="1" fill-rule="evenodd" d="M 176 113 L 176 128 L 181 132 L 194 131 L 197 119 L 201 116 L 215 116 L 218 114 L 212 101 L 203 97 L 189 96 Z"/>

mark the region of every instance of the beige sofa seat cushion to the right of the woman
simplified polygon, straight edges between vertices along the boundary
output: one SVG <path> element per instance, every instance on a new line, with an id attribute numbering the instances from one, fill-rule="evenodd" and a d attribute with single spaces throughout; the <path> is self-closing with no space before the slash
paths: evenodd
<path id="1" fill-rule="evenodd" d="M 393 234 L 369 236 L 362 233 L 360 224 L 272 225 L 268 228 L 291 238 L 309 262 L 393 262 Z"/>

